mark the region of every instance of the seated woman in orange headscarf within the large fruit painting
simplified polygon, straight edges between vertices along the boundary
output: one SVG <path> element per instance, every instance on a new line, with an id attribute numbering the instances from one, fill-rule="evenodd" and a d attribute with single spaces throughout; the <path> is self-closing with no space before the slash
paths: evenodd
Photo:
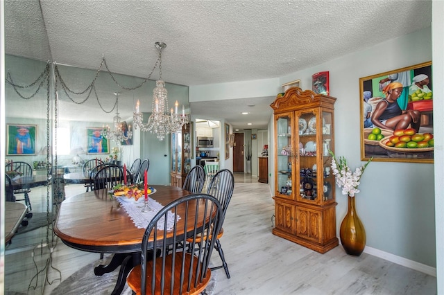
<path id="1" fill-rule="evenodd" d="M 401 96 L 403 87 L 399 82 L 392 82 L 382 90 L 386 98 L 382 99 L 375 107 L 372 114 L 372 123 L 375 127 L 382 129 L 407 129 L 411 128 L 419 131 L 420 111 L 407 109 L 402 110 L 398 105 L 398 98 Z"/>

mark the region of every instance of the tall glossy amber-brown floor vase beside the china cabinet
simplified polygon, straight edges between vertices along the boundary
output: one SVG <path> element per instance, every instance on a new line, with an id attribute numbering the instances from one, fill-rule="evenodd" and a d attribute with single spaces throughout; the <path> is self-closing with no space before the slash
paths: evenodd
<path id="1" fill-rule="evenodd" d="M 339 234 L 345 252 L 359 256 L 366 247 L 366 229 L 356 213 L 355 199 L 356 197 L 348 196 L 348 211 L 341 223 Z"/>

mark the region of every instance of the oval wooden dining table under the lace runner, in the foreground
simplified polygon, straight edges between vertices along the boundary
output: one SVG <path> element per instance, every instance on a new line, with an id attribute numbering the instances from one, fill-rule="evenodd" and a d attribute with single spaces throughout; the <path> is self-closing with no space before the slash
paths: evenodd
<path id="1" fill-rule="evenodd" d="M 190 194 L 188 190 L 175 186 L 152 187 L 155 188 L 155 193 L 149 197 L 162 206 Z M 179 215 L 185 215 L 185 207 L 179 210 Z M 178 224 L 182 222 L 185 222 L 183 218 Z M 191 231 L 194 224 L 189 222 L 187 228 Z M 94 268 L 94 274 L 101 276 L 121 265 L 112 294 L 121 293 L 128 272 L 140 263 L 145 229 L 137 229 L 123 206 L 107 189 L 93 190 L 65 199 L 60 204 L 53 230 L 62 242 L 74 249 L 114 254 L 109 265 Z M 162 234 L 159 237 L 162 238 Z"/>

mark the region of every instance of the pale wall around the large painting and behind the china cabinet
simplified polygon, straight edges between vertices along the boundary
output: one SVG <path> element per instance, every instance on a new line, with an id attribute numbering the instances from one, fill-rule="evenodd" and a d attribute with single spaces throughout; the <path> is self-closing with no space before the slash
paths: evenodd
<path id="1" fill-rule="evenodd" d="M 296 79 L 301 80 L 302 89 L 311 89 L 313 73 L 330 71 L 330 93 L 337 98 L 335 151 L 337 155 L 347 157 L 350 166 L 357 167 L 363 163 L 359 144 L 359 78 L 429 60 L 432 60 L 431 30 L 426 28 L 382 44 L 375 40 L 375 46 L 371 48 L 296 71 L 283 76 L 279 82 L 275 79 L 268 80 L 268 83 L 261 81 L 267 85 L 267 91 L 258 92 L 252 88 L 250 91 L 254 91 L 254 95 L 250 97 L 269 96 L 270 89 L 276 95 L 281 84 Z M 436 82 L 435 78 L 434 87 Z M 255 81 L 245 83 L 256 85 Z M 244 98 L 245 87 L 235 93 L 241 84 L 223 83 L 213 85 L 213 89 L 210 89 L 212 85 L 193 86 L 189 89 L 190 101 L 206 98 L 207 93 L 216 93 L 218 99 Z M 273 138 L 273 134 L 270 133 L 270 137 Z M 373 162 L 361 180 L 357 211 L 366 226 L 369 249 L 413 260 L 433 269 L 436 266 L 434 165 Z M 347 199 L 339 189 L 336 189 L 336 201 L 336 232 L 339 234 L 339 224 L 347 207 Z"/>

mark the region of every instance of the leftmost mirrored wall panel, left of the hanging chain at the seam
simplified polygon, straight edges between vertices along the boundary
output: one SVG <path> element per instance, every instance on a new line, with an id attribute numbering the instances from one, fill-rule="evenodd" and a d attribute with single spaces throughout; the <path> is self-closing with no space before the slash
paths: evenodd
<path id="1" fill-rule="evenodd" d="M 1 19 L 3 23 L 1 25 L 5 28 L 5 51 L 8 56 L 5 57 L 4 69 L 1 70 L 6 75 L 10 74 L 13 83 L 28 86 L 46 69 L 47 61 L 52 60 L 40 5 L 38 1 L 4 1 L 3 3 L 4 19 Z M 16 55 L 33 57 L 33 60 L 23 59 Z M 39 73 L 39 75 L 35 75 L 35 73 Z M 46 81 L 43 81 L 45 78 Z M 51 145 L 47 144 L 52 141 L 52 138 L 48 136 L 50 133 L 47 132 L 47 126 L 48 124 L 51 126 L 52 120 L 49 120 L 47 116 L 46 107 L 48 98 L 52 102 L 52 94 L 48 93 L 49 79 L 47 78 L 49 77 L 45 76 L 40 80 L 40 82 L 44 82 L 43 84 L 38 82 L 30 87 L 17 89 L 22 96 L 28 99 L 21 98 L 10 84 L 2 81 L 5 85 L 4 114 L 6 124 L 35 126 L 35 134 L 33 134 L 35 137 L 26 141 L 33 143 L 33 154 L 19 155 L 11 152 L 13 150 L 11 148 L 10 152 L 3 157 L 11 161 L 23 161 L 30 164 L 33 175 L 42 179 L 46 179 L 47 171 L 43 163 L 52 161 L 51 148 L 49 148 L 50 154 L 48 155 L 48 147 Z M 39 88 L 40 90 L 37 91 Z M 30 96 L 33 97 L 30 98 Z M 52 114 L 52 109 L 49 114 Z M 1 128 L 6 134 L 6 126 L 1 126 Z M 11 137 L 13 133 L 13 129 L 10 129 Z M 10 139 L 11 142 L 14 142 L 12 138 Z M 8 142 L 8 138 L 6 141 Z M 1 175 L 1 177 L 3 182 L 5 175 Z M 27 294 L 42 290 L 45 283 L 44 271 L 39 276 L 36 269 L 45 269 L 50 251 L 47 247 L 41 247 L 40 251 L 37 251 L 37 245 L 49 244 L 52 241 L 52 230 L 48 226 L 52 219 L 52 187 L 49 185 L 31 188 L 28 197 L 32 207 L 32 217 L 27 215 L 24 223 L 19 222 L 17 217 L 12 220 L 12 224 L 18 222 L 19 228 L 17 233 L 12 236 L 10 243 L 6 244 L 4 253 L 1 253 L 2 256 L 4 254 L 5 262 L 5 294 Z M 23 199 L 23 196 L 17 194 L 16 199 Z M 12 204 L 24 204 L 24 202 L 17 201 Z M 4 214 L 6 215 L 6 213 L 8 212 L 6 211 Z M 3 247 L 1 249 L 3 252 Z M 36 255 L 32 256 L 31 253 Z M 56 274 L 56 271 L 53 274 Z"/>

